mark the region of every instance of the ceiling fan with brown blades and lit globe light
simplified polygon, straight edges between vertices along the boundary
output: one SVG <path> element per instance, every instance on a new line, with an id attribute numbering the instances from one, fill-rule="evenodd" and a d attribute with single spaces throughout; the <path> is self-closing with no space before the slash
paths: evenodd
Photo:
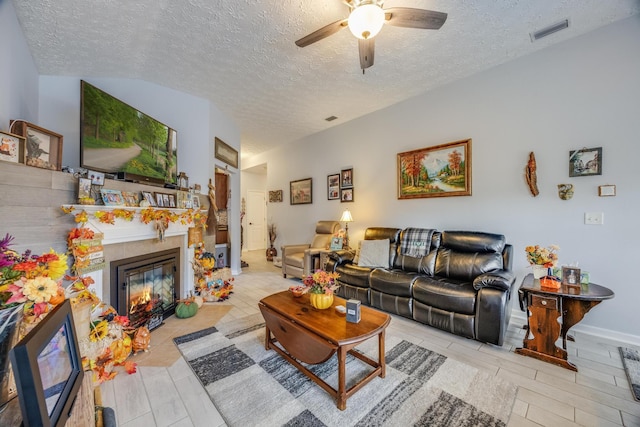
<path id="1" fill-rule="evenodd" d="M 409 7 L 392 7 L 382 9 L 384 0 L 344 0 L 349 7 L 349 17 L 326 25 L 319 30 L 296 41 L 299 47 L 309 46 L 344 27 L 349 27 L 358 38 L 360 52 L 360 68 L 364 70 L 373 65 L 374 37 L 380 32 L 384 24 L 405 28 L 421 28 L 437 30 L 447 20 L 447 14 L 432 10 L 414 9 Z"/>

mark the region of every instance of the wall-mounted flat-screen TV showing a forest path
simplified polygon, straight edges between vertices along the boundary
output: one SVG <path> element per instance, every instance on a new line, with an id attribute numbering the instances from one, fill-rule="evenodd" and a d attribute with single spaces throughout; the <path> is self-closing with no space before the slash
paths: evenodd
<path id="1" fill-rule="evenodd" d="M 176 132 L 82 82 L 82 166 L 175 183 Z"/>

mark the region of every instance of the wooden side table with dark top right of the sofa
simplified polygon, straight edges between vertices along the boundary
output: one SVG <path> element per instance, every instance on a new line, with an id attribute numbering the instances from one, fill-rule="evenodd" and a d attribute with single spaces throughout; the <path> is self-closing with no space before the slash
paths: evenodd
<path id="1" fill-rule="evenodd" d="M 613 298 L 613 291 L 595 283 L 543 289 L 540 280 L 528 274 L 518 294 L 520 306 L 527 312 L 527 334 L 516 353 L 578 371 L 567 359 L 567 340 L 574 340 L 567 335 L 569 329 L 600 302 Z M 562 348 L 555 344 L 558 338 L 562 338 Z"/>

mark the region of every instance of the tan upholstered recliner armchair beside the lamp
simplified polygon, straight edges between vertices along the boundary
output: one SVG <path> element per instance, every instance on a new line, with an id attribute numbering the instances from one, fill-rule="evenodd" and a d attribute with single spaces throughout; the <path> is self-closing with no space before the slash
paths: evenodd
<path id="1" fill-rule="evenodd" d="M 339 229 L 338 221 L 318 221 L 310 244 L 282 246 L 282 276 L 302 278 L 319 268 L 320 251 L 329 248 L 331 237 Z"/>

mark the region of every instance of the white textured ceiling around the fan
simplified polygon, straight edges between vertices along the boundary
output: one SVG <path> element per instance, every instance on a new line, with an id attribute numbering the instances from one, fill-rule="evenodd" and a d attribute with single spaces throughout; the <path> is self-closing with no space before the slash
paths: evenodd
<path id="1" fill-rule="evenodd" d="M 1 0 L 0 0 L 1 1 Z M 387 0 L 448 13 L 438 31 L 385 26 L 362 74 L 339 0 L 13 0 L 42 75 L 142 79 L 209 99 L 242 156 L 345 123 L 639 13 L 639 0 Z M 568 18 L 535 43 L 529 33 Z M 338 120 L 326 122 L 335 115 Z"/>

